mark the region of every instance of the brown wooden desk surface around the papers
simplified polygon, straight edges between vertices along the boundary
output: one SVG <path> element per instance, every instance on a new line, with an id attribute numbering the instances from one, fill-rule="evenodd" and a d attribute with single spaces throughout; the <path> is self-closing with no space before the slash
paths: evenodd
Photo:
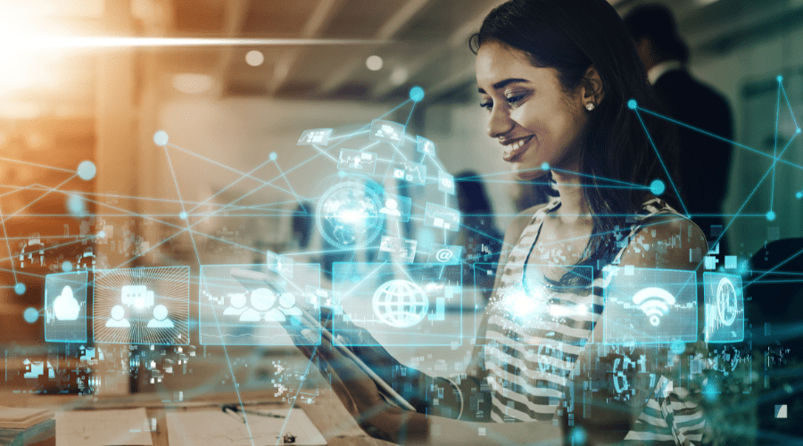
<path id="1" fill-rule="evenodd" d="M 268 392 L 242 392 L 244 404 L 264 401 L 265 407 L 271 409 L 289 408 L 283 401 L 276 401 Z M 156 432 L 152 433 L 153 444 L 168 446 L 168 432 L 165 414 L 170 411 L 192 411 L 219 407 L 221 404 L 236 404 L 236 395 L 233 392 L 225 394 L 204 394 L 192 401 L 178 403 L 161 402 L 159 396 L 153 393 L 141 393 L 122 397 L 94 397 L 74 395 L 37 395 L 31 393 L 13 393 L 0 390 L 0 401 L 4 406 L 50 408 L 54 411 L 63 410 L 102 410 L 102 409 L 134 409 L 145 407 L 148 417 L 156 418 Z M 312 423 L 318 427 L 327 443 L 332 446 L 358 445 L 381 446 L 390 443 L 375 440 L 362 432 L 360 426 L 346 411 L 343 404 L 330 389 L 320 391 L 319 397 L 312 404 L 299 404 L 296 406 L 306 412 Z M 43 442 L 42 444 L 54 444 Z"/>

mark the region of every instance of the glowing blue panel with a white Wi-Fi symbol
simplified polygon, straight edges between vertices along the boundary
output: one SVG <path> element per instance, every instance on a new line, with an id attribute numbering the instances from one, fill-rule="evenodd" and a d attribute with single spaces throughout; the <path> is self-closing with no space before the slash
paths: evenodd
<path id="1" fill-rule="evenodd" d="M 603 275 L 603 343 L 697 341 L 694 271 L 615 267 Z"/>

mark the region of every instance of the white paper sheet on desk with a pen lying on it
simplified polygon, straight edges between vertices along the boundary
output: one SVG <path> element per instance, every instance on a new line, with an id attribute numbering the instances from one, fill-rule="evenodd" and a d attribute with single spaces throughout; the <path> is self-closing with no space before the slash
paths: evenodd
<path id="1" fill-rule="evenodd" d="M 286 409 L 260 412 L 288 415 Z M 222 410 L 171 412 L 166 416 L 168 442 L 170 446 L 273 446 L 283 444 L 280 437 L 291 434 L 297 445 L 327 444 L 302 409 L 289 412 L 289 419 L 251 414 L 247 426 Z"/>

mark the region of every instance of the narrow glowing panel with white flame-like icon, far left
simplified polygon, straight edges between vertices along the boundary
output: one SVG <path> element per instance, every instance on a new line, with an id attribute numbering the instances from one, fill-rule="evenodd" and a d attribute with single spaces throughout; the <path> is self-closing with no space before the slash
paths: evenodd
<path id="1" fill-rule="evenodd" d="M 45 277 L 46 342 L 87 342 L 88 277 L 86 271 Z"/>

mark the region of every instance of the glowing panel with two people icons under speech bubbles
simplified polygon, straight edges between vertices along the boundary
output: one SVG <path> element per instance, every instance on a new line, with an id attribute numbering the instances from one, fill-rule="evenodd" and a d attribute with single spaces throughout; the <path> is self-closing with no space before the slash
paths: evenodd
<path id="1" fill-rule="evenodd" d="M 95 343 L 187 345 L 189 267 L 95 273 Z"/>

